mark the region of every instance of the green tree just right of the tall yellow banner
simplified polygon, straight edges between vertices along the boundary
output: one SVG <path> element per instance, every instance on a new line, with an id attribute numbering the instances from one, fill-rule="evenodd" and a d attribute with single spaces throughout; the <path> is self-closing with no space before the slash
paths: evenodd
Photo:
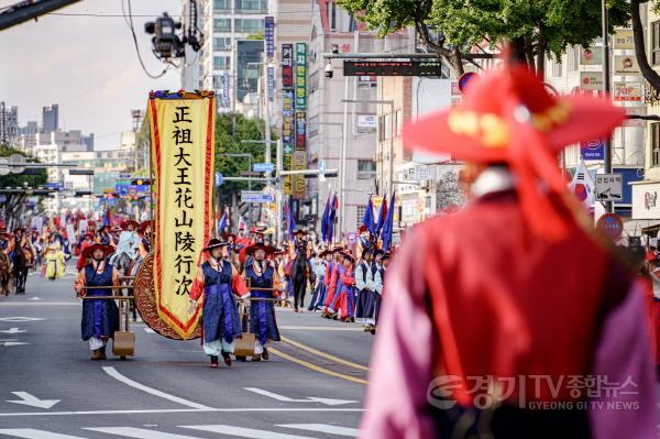
<path id="1" fill-rule="evenodd" d="M 228 157 L 222 154 L 252 154 L 252 163 L 264 161 L 263 143 L 242 143 L 242 140 L 264 140 L 264 121 L 246 119 L 240 113 L 222 113 L 216 118 L 216 169 L 226 177 L 240 177 L 242 172 L 250 169 L 248 157 Z M 276 135 L 271 134 L 275 140 Z M 271 161 L 275 163 L 275 145 L 273 144 Z M 248 189 L 246 182 L 224 182 L 220 186 L 220 199 L 229 204 L 231 194 Z M 264 185 L 252 183 L 252 189 L 261 189 Z"/>

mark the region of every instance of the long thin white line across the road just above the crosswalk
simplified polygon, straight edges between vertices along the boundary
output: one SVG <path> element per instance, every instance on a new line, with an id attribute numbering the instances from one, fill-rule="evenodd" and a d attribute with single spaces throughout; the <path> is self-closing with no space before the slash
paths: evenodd
<path id="1" fill-rule="evenodd" d="M 0 413 L 0 418 L 12 417 L 31 417 L 31 416 L 87 416 L 87 415 L 144 415 L 144 414 L 165 414 L 165 413 L 267 413 L 267 411 L 309 411 L 309 413 L 354 413 L 364 411 L 363 408 L 306 408 L 306 407 L 264 407 L 264 408 L 153 408 L 153 409 L 136 409 L 136 410 L 87 410 L 87 411 L 18 411 L 18 413 Z"/>

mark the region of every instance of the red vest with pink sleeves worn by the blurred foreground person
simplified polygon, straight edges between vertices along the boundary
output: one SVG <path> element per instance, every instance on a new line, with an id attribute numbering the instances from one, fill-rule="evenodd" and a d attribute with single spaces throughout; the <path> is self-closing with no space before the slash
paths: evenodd
<path id="1" fill-rule="evenodd" d="M 652 437 L 656 386 L 638 284 L 578 226 L 549 243 L 530 231 L 515 193 L 486 194 L 416 227 L 385 290 L 361 437 L 444 437 L 430 404 L 443 385 L 433 377 L 452 377 L 443 386 L 449 400 L 470 409 L 486 394 L 474 378 L 520 376 L 505 406 L 586 403 L 578 415 L 591 431 L 584 437 Z M 561 383 L 557 394 L 543 381 L 536 389 L 534 376 Z M 570 376 L 605 376 L 631 394 L 582 387 L 575 397 Z M 638 408 L 607 408 L 612 402 Z"/>

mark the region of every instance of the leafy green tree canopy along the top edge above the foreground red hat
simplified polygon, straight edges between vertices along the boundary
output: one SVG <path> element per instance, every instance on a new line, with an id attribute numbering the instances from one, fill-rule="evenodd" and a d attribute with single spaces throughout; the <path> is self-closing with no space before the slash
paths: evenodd
<path id="1" fill-rule="evenodd" d="M 638 0 L 639 1 L 639 0 Z M 590 46 L 601 35 L 600 0 L 338 0 L 378 36 L 414 26 L 422 44 L 457 75 L 464 63 L 497 52 L 503 40 L 525 54 L 539 74 L 546 55 L 568 46 Z M 627 0 L 608 0 L 609 26 L 628 22 Z M 477 47 L 480 54 L 474 54 Z"/>

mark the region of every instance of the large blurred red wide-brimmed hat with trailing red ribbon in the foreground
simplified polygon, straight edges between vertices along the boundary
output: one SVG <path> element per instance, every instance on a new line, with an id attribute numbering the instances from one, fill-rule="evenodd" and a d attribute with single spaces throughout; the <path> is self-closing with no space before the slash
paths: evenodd
<path id="1" fill-rule="evenodd" d="M 558 153 L 609 134 L 625 114 L 607 99 L 552 96 L 528 68 L 506 64 L 471 80 L 461 105 L 404 127 L 404 141 L 409 149 L 507 165 L 530 226 L 556 239 L 565 235 L 568 219 L 550 199 L 554 194 L 572 204 Z"/>

